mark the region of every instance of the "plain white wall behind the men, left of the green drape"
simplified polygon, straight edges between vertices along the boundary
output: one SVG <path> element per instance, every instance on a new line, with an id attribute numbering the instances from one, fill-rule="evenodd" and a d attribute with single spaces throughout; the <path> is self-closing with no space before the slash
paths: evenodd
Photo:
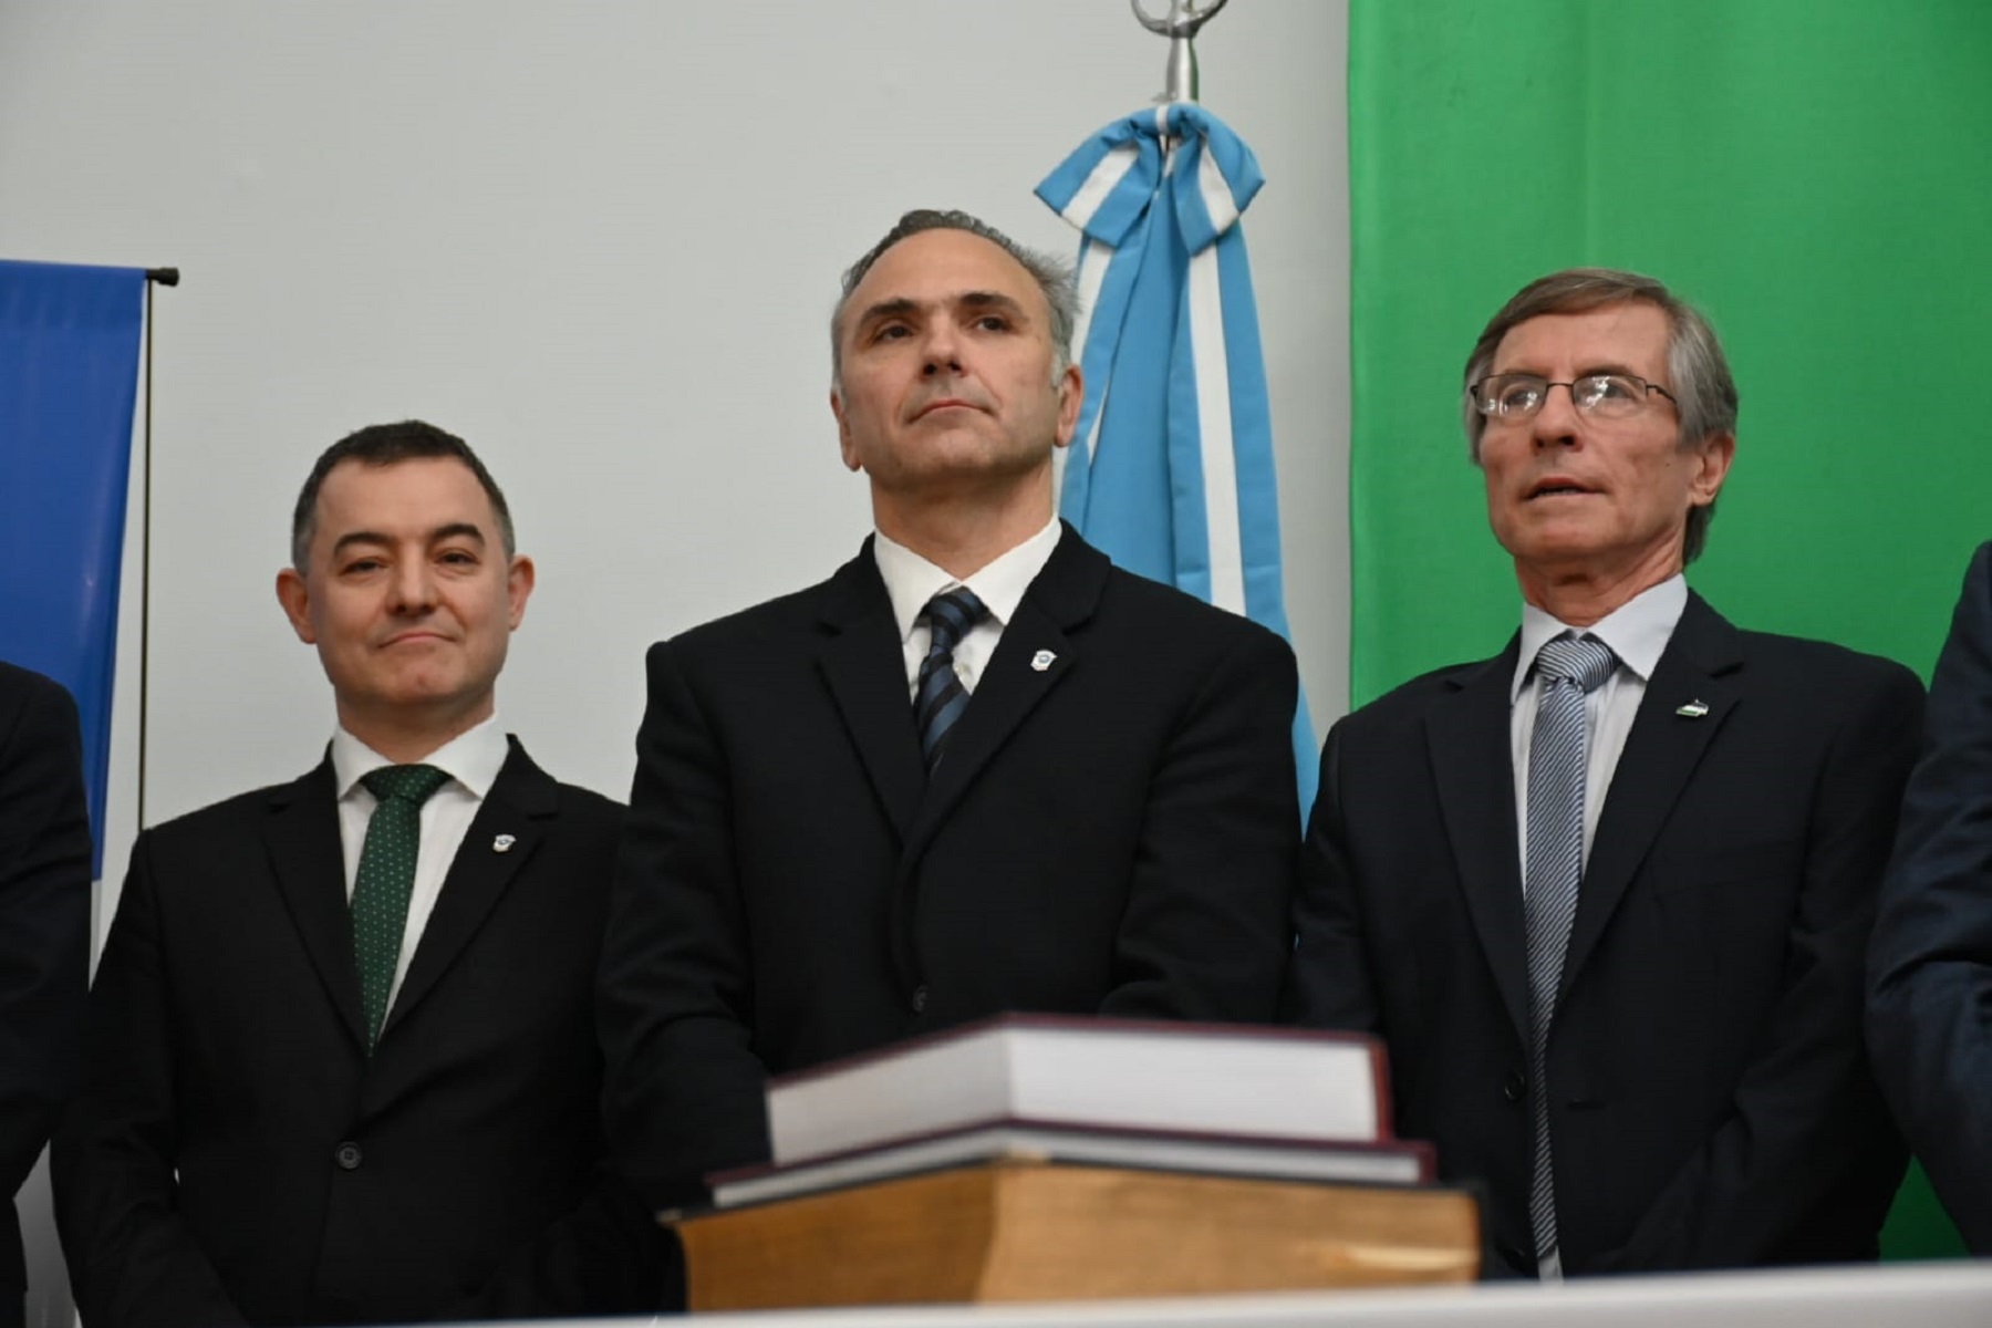
<path id="1" fill-rule="evenodd" d="M 1199 52 L 1269 177 L 1247 233 L 1325 721 L 1345 4 L 1237 0 Z M 627 792 L 643 647 L 823 577 L 869 526 L 825 406 L 839 271 L 916 205 L 1070 253 L 1030 189 L 1159 92 L 1163 54 L 1121 0 L 0 0 L 0 257 L 185 273 L 155 303 L 145 818 L 317 759 L 329 691 L 271 593 L 289 508 L 321 448 L 404 416 L 482 452 L 540 565 L 502 717 Z M 135 767 L 127 727 L 114 755 Z M 114 878 L 135 824 L 125 778 Z"/>

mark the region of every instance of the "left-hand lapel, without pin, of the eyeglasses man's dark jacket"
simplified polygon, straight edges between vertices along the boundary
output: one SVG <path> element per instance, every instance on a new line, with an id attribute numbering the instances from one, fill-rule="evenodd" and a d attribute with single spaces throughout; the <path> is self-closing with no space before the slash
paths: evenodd
<path id="1" fill-rule="evenodd" d="M 1466 673 L 1432 707 L 1426 747 L 1452 844 L 1466 912 L 1494 986 L 1520 1037 L 1528 1037 L 1528 938 L 1522 922 L 1522 850 L 1516 840 L 1510 687 L 1520 639 Z"/>

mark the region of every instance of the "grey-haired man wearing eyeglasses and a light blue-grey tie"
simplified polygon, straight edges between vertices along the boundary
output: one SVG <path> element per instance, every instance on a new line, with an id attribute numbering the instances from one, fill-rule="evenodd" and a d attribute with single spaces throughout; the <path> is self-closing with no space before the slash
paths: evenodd
<path id="1" fill-rule="evenodd" d="M 1920 685 L 1687 589 L 1737 392 L 1661 283 L 1524 287 L 1464 416 L 1520 631 L 1329 735 L 1289 1013 L 1386 1039 L 1490 1276 L 1872 1258 L 1863 946 Z"/>

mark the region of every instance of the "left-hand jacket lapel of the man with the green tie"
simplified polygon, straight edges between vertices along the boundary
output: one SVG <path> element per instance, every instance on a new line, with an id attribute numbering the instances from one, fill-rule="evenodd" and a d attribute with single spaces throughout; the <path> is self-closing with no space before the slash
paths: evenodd
<path id="1" fill-rule="evenodd" d="M 277 892 L 305 942 L 305 954 L 353 1039 L 361 1031 L 361 974 L 353 960 L 345 848 L 339 842 L 339 788 L 327 757 L 319 769 L 271 794 L 263 822 Z"/>

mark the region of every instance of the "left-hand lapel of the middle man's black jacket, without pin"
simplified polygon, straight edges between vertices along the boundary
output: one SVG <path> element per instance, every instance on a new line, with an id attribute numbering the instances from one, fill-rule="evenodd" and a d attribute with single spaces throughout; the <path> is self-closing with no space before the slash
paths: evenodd
<path id="1" fill-rule="evenodd" d="M 871 540 L 831 577 L 819 621 L 827 639 L 817 667 L 872 790 L 904 844 L 926 786 L 926 769 L 920 761 L 920 735 L 912 725 L 898 623 Z"/>

